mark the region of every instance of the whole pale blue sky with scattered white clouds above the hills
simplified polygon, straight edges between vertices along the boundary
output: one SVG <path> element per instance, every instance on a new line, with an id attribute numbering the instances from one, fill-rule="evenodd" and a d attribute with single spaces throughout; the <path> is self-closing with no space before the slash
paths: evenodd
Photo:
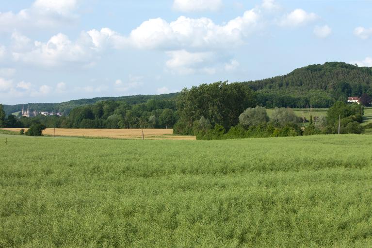
<path id="1" fill-rule="evenodd" d="M 372 0 L 0 0 L 0 103 L 372 66 Z"/>

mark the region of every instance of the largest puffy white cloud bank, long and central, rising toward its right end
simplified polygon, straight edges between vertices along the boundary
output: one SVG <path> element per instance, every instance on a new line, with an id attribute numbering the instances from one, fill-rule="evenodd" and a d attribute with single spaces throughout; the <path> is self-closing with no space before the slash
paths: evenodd
<path id="1" fill-rule="evenodd" d="M 244 12 L 225 25 L 215 24 L 210 18 L 178 17 L 166 22 L 162 18 L 150 19 L 134 29 L 130 42 L 141 49 L 230 48 L 243 43 L 259 22 L 255 10 Z"/>

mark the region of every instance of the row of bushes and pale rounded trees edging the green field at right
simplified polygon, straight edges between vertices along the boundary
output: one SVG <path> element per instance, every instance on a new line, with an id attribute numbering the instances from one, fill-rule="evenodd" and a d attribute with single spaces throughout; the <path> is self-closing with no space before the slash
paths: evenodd
<path id="1" fill-rule="evenodd" d="M 275 108 L 269 118 L 266 109 L 260 106 L 248 108 L 239 116 L 239 124 L 230 128 L 228 132 L 220 125 L 214 127 L 208 119 L 202 116 L 194 122 L 193 132 L 197 139 L 231 139 L 248 137 L 283 137 L 314 134 L 362 133 L 360 125 L 364 108 L 358 104 L 346 104 L 338 101 L 327 112 L 327 116 L 313 119 L 301 129 L 298 126 L 300 118 L 290 108 Z"/>

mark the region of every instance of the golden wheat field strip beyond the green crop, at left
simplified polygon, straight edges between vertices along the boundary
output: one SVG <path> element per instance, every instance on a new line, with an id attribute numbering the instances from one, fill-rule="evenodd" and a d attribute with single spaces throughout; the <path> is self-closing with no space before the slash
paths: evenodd
<path id="1" fill-rule="evenodd" d="M 19 132 L 20 128 L 3 128 Z M 27 128 L 25 129 L 27 131 Z M 142 139 L 142 129 L 65 129 L 47 128 L 44 135 L 76 137 L 108 137 L 116 139 Z M 144 129 L 145 139 L 195 140 L 195 136 L 173 135 L 173 129 Z"/>

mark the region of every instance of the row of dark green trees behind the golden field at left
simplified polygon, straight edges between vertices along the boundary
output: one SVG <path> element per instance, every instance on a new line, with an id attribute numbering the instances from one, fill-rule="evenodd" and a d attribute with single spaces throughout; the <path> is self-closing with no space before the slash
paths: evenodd
<path id="1" fill-rule="evenodd" d="M 6 117 L 2 111 L 0 127 L 29 128 L 33 124 L 43 124 L 48 128 L 172 128 L 178 120 L 175 110 L 174 100 L 149 99 L 134 105 L 110 100 L 74 108 L 69 116 L 17 118 Z"/>

